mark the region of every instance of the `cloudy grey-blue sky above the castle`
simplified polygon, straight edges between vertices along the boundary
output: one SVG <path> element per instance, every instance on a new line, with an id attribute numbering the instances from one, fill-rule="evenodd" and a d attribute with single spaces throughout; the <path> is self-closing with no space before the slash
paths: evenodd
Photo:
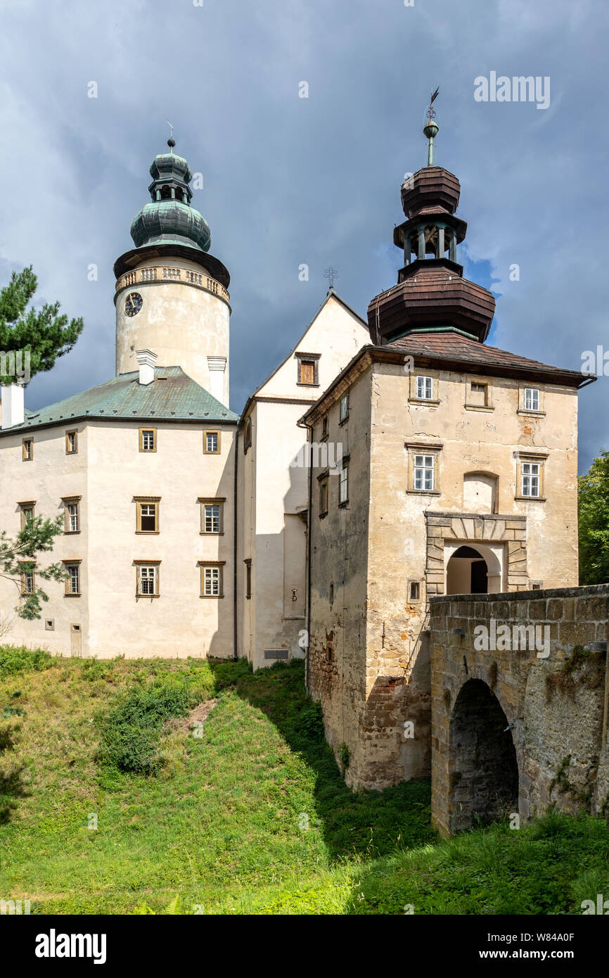
<path id="1" fill-rule="evenodd" d="M 400 184 L 426 162 L 438 85 L 436 161 L 461 183 L 465 276 L 497 295 L 490 342 L 575 370 L 600 345 L 609 374 L 609 6 L 408 2 L 0 3 L 0 281 L 31 263 L 37 301 L 85 320 L 74 350 L 32 380 L 29 408 L 113 376 L 112 264 L 132 246 L 167 118 L 203 174 L 193 203 L 232 277 L 240 411 L 324 300 L 327 265 L 364 317 L 396 282 Z M 549 77 L 548 108 L 477 102 L 474 79 L 493 71 Z M 609 448 L 608 399 L 609 377 L 581 394 L 582 469 Z"/>

